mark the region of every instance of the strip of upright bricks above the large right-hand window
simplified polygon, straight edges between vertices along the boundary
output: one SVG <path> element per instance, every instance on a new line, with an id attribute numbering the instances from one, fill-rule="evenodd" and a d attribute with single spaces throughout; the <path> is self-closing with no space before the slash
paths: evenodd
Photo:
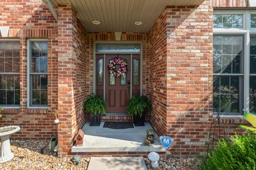
<path id="1" fill-rule="evenodd" d="M 249 7 L 248 0 L 212 0 L 213 7 Z"/>

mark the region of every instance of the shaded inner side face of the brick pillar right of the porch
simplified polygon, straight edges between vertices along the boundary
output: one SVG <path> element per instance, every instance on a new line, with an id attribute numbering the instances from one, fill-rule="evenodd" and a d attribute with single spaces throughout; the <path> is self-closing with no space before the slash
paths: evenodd
<path id="1" fill-rule="evenodd" d="M 149 96 L 152 104 L 150 122 L 159 135 L 166 134 L 167 41 L 166 13 L 157 19 L 149 33 Z"/>

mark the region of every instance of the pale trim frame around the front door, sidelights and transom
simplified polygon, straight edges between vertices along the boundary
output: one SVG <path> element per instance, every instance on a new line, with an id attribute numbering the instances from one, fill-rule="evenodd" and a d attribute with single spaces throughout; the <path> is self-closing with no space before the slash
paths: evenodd
<path id="1" fill-rule="evenodd" d="M 143 54 L 142 54 L 142 41 L 94 41 L 93 43 L 93 94 L 96 94 L 96 54 L 104 54 L 103 63 L 106 62 L 106 53 L 97 53 L 96 44 L 140 44 L 140 53 L 113 53 L 113 54 L 140 54 L 140 96 L 142 96 L 142 66 L 143 66 Z M 109 53 L 110 54 L 110 53 Z M 131 60 L 132 63 L 132 60 Z M 106 64 L 103 65 L 103 70 L 106 69 Z M 130 66 L 132 70 L 132 64 Z M 103 98 L 105 98 L 106 84 L 105 84 L 105 75 L 103 75 Z M 132 73 L 131 73 L 131 91 L 132 91 Z M 131 97 L 132 93 L 130 93 Z"/>

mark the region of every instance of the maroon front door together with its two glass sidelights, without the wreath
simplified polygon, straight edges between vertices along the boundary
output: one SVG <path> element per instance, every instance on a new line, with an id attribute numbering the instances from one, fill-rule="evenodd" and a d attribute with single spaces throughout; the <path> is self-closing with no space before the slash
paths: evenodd
<path id="1" fill-rule="evenodd" d="M 109 72 L 109 63 L 114 58 L 124 59 L 128 64 L 123 77 L 114 77 Z M 97 54 L 96 62 L 96 93 L 105 97 L 107 113 L 126 113 L 131 94 L 140 95 L 140 55 Z M 119 68 L 116 65 L 116 70 Z"/>

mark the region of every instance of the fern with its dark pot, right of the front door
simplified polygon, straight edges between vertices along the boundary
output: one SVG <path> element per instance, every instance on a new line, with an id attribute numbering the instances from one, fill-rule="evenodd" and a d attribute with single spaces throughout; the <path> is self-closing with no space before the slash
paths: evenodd
<path id="1" fill-rule="evenodd" d="M 145 115 L 151 111 L 151 104 L 146 96 L 132 96 L 127 103 L 126 110 L 133 116 L 135 126 L 145 126 Z"/>

